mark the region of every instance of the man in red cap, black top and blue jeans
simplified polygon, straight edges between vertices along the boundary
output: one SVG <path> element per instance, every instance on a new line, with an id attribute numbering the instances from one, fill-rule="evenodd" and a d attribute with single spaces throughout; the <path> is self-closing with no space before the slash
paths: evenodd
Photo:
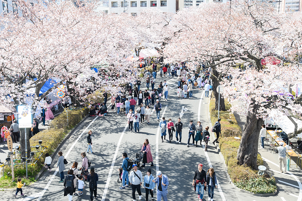
<path id="1" fill-rule="evenodd" d="M 194 172 L 193 183 L 194 190 L 197 193 L 198 199 L 201 201 L 204 197 L 204 187 L 207 186 L 207 174 L 202 169 L 202 164 L 198 164 L 198 169 Z"/>

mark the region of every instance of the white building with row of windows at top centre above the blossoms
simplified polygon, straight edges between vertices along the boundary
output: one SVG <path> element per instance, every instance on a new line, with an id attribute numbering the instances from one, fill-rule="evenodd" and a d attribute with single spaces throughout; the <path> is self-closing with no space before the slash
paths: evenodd
<path id="1" fill-rule="evenodd" d="M 176 13 L 176 1 L 178 2 L 178 0 L 109 0 L 109 13 L 126 12 L 137 15 L 146 8 L 157 8 L 163 12 Z"/>

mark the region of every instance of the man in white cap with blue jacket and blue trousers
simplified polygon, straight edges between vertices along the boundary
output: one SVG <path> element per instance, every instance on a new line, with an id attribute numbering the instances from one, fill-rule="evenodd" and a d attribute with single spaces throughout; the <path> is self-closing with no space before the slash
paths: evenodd
<path id="1" fill-rule="evenodd" d="M 168 194 L 168 177 L 164 174 L 162 174 L 161 171 L 156 172 L 157 177 L 152 180 L 155 184 L 158 184 L 157 186 L 157 191 L 156 191 L 156 196 L 157 196 L 157 201 L 164 200 L 167 201 L 167 194 Z"/>

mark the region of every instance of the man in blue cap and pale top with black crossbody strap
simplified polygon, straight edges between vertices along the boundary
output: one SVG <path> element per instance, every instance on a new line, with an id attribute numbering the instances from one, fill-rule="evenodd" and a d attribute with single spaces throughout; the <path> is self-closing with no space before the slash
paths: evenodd
<path id="1" fill-rule="evenodd" d="M 129 182 L 132 188 L 132 198 L 135 201 L 135 190 L 137 190 L 139 199 L 142 199 L 142 192 L 140 191 L 140 186 L 143 183 L 143 174 L 137 169 L 137 164 L 132 165 L 133 171 L 130 172 Z"/>

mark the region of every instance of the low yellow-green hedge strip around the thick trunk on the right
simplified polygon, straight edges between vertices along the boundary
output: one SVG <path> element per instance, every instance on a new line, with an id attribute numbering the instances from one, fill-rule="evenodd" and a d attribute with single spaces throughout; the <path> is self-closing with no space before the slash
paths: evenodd
<path id="1" fill-rule="evenodd" d="M 225 101 L 225 106 L 226 110 L 229 110 L 231 107 L 227 101 Z M 218 111 L 215 111 L 214 96 L 212 96 L 210 100 L 209 108 L 210 118 L 212 123 L 214 123 L 218 118 Z M 274 177 L 268 178 L 269 176 L 267 175 L 260 176 L 258 171 L 246 165 L 238 165 L 237 150 L 240 140 L 236 140 L 234 137 L 241 137 L 242 131 L 237 124 L 234 114 L 229 111 L 220 111 L 219 118 L 221 118 L 220 152 L 224 157 L 233 184 L 238 188 L 252 193 L 274 193 L 277 190 Z M 257 165 L 263 165 L 260 154 L 257 156 Z"/>

